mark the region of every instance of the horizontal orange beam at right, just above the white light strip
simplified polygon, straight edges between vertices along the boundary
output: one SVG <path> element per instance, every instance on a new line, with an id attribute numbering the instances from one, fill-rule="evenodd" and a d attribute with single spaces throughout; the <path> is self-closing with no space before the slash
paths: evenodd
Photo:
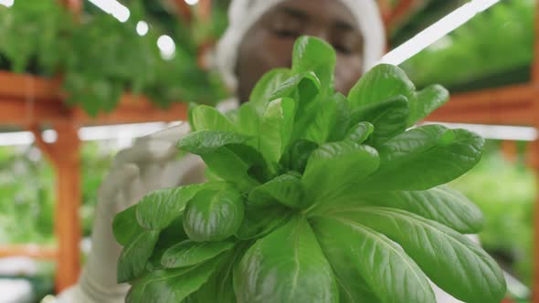
<path id="1" fill-rule="evenodd" d="M 531 85 L 517 85 L 456 94 L 427 120 L 532 126 L 534 89 Z"/>

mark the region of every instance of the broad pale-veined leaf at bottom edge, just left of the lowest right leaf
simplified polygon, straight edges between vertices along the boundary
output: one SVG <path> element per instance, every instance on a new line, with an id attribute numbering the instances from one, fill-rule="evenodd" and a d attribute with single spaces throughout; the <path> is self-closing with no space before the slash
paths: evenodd
<path id="1" fill-rule="evenodd" d="M 336 216 L 315 217 L 312 225 L 333 267 L 341 302 L 436 301 L 425 274 L 386 235 Z"/>

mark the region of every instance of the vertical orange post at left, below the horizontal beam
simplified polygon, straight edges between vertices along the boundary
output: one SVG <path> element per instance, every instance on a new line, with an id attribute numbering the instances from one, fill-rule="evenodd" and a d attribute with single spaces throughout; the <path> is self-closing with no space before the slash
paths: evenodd
<path id="1" fill-rule="evenodd" d="M 55 233 L 58 239 L 57 291 L 77 283 L 80 271 L 80 141 L 71 123 L 55 126 L 58 140 L 53 143 L 53 163 L 57 173 Z"/>

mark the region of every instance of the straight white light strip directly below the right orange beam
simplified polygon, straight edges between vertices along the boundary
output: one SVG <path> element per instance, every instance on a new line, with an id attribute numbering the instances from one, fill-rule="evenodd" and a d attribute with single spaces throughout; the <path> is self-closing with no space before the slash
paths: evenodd
<path id="1" fill-rule="evenodd" d="M 509 125 L 485 125 L 467 123 L 439 123 L 426 122 L 422 125 L 441 124 L 449 129 L 465 129 L 476 132 L 485 139 L 509 140 L 509 141 L 535 141 L 538 139 L 538 132 L 533 127 L 509 126 Z"/>

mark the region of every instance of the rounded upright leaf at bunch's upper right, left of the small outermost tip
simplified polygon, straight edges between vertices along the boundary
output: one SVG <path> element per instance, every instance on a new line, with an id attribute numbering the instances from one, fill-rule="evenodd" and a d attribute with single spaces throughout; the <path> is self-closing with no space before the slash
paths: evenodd
<path id="1" fill-rule="evenodd" d="M 381 102 L 398 95 L 410 99 L 416 88 L 406 73 L 396 66 L 380 64 L 368 71 L 350 90 L 352 109 Z"/>

